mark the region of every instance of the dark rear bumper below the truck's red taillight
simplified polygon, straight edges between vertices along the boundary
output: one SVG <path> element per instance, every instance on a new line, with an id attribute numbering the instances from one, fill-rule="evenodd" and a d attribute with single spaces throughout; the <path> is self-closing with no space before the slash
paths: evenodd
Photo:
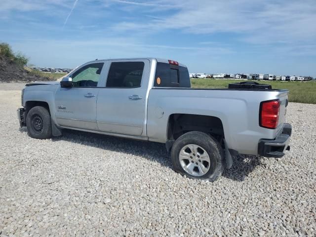
<path id="1" fill-rule="evenodd" d="M 261 140 L 258 145 L 258 154 L 263 157 L 280 158 L 284 152 L 290 150 L 288 145 L 292 133 L 292 126 L 284 123 L 282 132 L 272 140 Z"/>

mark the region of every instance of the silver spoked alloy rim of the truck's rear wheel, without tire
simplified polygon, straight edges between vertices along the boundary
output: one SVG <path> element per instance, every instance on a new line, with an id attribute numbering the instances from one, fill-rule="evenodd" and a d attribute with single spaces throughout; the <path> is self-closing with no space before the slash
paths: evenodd
<path id="1" fill-rule="evenodd" d="M 192 176 L 206 174 L 211 166 L 207 152 L 198 145 L 185 145 L 179 154 L 179 161 L 184 171 Z"/>

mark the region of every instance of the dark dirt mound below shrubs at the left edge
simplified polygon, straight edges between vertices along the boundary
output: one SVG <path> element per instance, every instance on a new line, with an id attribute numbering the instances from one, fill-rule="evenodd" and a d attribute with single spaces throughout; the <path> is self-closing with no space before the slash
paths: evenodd
<path id="1" fill-rule="evenodd" d="M 18 81 L 35 81 L 35 80 L 50 80 L 46 77 L 40 77 L 32 72 L 21 68 L 15 62 L 0 55 L 0 81 L 1 82 L 18 82 Z"/>

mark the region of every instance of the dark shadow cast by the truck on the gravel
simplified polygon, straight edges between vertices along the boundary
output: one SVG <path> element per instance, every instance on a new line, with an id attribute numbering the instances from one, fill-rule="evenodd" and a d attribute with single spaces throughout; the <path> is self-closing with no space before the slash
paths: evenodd
<path id="1" fill-rule="evenodd" d="M 26 127 L 20 128 L 20 132 L 26 133 Z M 136 141 L 69 129 L 64 129 L 62 136 L 53 137 L 51 140 L 53 142 L 68 141 L 108 151 L 140 156 L 173 169 L 170 156 L 167 154 L 164 144 L 161 143 Z M 244 181 L 245 177 L 257 166 L 264 165 L 258 156 L 238 155 L 233 157 L 233 159 L 232 168 L 225 170 L 223 176 L 240 182 Z"/>

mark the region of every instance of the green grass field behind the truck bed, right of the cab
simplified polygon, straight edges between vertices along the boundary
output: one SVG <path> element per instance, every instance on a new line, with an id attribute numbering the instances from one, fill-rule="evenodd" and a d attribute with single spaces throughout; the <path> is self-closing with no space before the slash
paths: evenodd
<path id="1" fill-rule="evenodd" d="M 230 79 L 191 79 L 193 88 L 227 88 L 229 83 L 244 80 Z M 314 81 L 259 81 L 271 84 L 273 89 L 288 89 L 289 102 L 316 104 L 316 82 Z"/>

